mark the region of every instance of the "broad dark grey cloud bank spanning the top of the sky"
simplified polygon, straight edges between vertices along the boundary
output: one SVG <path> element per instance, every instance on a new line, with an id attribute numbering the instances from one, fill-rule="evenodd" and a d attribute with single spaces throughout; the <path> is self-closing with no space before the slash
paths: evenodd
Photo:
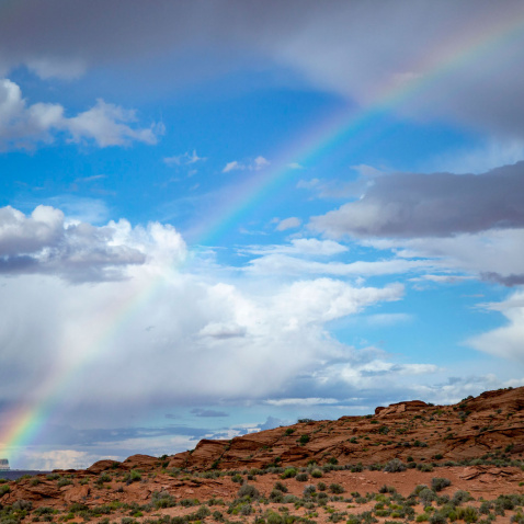
<path id="1" fill-rule="evenodd" d="M 517 0 L 19 0 L 0 20 L 0 67 L 136 71 L 150 93 L 271 62 L 362 103 L 408 87 L 405 114 L 524 136 L 523 10 Z"/>

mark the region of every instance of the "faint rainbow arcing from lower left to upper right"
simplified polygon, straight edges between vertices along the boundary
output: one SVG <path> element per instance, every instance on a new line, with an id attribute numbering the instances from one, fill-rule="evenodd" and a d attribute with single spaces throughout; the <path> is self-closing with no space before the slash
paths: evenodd
<path id="1" fill-rule="evenodd" d="M 491 31 L 462 36 L 459 42 L 448 42 L 444 48 L 435 49 L 425 64 L 413 66 L 415 75 L 403 82 L 385 86 L 375 94 L 374 100 L 358 111 L 349 109 L 316 124 L 309 133 L 288 144 L 271 167 L 253 172 L 220 206 L 213 209 L 213 215 L 206 217 L 206 223 L 196 228 L 195 243 L 218 243 L 227 231 L 232 230 L 252 209 L 261 206 L 289 180 L 294 173 L 289 168 L 292 162 L 314 164 L 318 158 L 329 155 L 338 145 L 348 143 L 364 129 L 379 132 L 385 114 L 401 110 L 406 102 L 423 93 L 441 78 L 522 36 L 523 29 L 524 12 L 521 16 L 511 16 L 493 24 Z M 161 288 L 163 278 L 164 276 L 158 275 L 136 285 L 127 296 L 116 297 L 101 312 L 100 318 L 93 320 L 92 326 L 98 326 L 98 329 L 93 329 L 88 339 L 75 342 L 76 346 L 80 344 L 76 351 L 77 356 L 65 357 L 25 401 L 2 415 L 0 456 L 7 456 L 14 464 L 13 456 L 37 441 L 42 430 L 59 411 L 68 387 L 86 365 L 111 348 L 111 342 L 137 312 L 150 304 L 152 296 Z"/>

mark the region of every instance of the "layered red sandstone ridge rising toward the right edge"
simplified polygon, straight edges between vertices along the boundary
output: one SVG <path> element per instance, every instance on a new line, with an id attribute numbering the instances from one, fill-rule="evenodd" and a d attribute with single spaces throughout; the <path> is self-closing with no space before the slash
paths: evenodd
<path id="1" fill-rule="evenodd" d="M 524 388 L 487 391 L 454 406 L 410 400 L 379 407 L 374 415 L 306 421 L 232 438 L 204 440 L 169 467 L 263 468 L 314 460 L 369 465 L 391 458 L 464 460 L 524 452 Z"/>

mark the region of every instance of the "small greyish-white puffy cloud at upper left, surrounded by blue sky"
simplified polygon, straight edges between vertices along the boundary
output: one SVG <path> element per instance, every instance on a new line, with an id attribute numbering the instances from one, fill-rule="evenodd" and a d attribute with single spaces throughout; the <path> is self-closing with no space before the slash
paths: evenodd
<path id="1" fill-rule="evenodd" d="M 163 133 L 161 124 L 149 128 L 133 126 L 134 110 L 125 110 L 99 99 L 95 105 L 76 116 L 66 116 L 60 104 L 29 105 L 20 87 L 9 79 L 0 80 L 0 147 L 33 148 L 37 143 L 52 143 L 66 133 L 72 143 L 93 141 L 99 147 L 126 146 L 133 141 L 156 144 Z"/>

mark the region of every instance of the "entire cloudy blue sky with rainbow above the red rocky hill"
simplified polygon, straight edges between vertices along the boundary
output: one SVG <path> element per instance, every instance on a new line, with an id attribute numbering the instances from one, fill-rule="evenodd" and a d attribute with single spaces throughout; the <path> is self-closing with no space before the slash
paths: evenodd
<path id="1" fill-rule="evenodd" d="M 523 62 L 522 1 L 3 0 L 0 457 L 524 385 Z"/>

